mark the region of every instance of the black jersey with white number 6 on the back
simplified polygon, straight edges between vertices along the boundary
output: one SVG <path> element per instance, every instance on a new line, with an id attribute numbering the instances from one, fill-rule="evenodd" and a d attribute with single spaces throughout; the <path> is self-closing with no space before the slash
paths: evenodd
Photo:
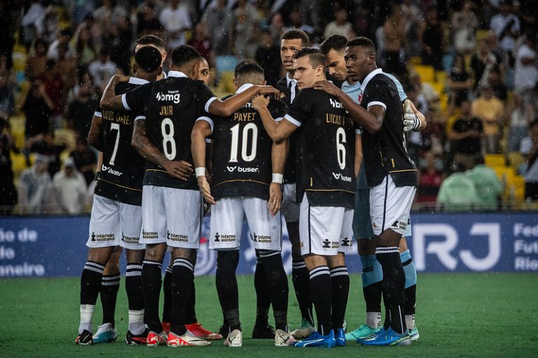
<path id="1" fill-rule="evenodd" d="M 291 103 L 284 118 L 300 126 L 297 201 L 306 194 L 312 206 L 353 208 L 358 129 L 343 104 L 326 92 L 306 88 Z"/>

